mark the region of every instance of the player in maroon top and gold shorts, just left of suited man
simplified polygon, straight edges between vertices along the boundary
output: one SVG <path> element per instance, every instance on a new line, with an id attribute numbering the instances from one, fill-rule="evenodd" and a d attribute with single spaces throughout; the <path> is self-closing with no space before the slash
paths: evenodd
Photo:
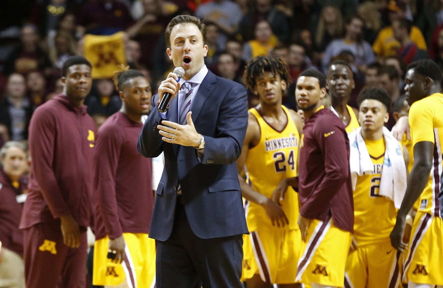
<path id="1" fill-rule="evenodd" d="M 137 152 L 137 139 L 152 92 L 140 71 L 121 68 L 114 77 L 121 109 L 98 129 L 95 142 L 93 284 L 149 288 L 155 279 L 155 241 L 148 238 L 152 164 Z"/>

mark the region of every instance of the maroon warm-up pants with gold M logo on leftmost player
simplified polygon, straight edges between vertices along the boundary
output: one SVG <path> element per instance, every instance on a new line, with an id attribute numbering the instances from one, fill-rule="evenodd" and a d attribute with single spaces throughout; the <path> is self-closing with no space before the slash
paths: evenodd
<path id="1" fill-rule="evenodd" d="M 86 232 L 80 247 L 63 244 L 59 222 L 38 223 L 23 230 L 27 288 L 85 288 Z"/>

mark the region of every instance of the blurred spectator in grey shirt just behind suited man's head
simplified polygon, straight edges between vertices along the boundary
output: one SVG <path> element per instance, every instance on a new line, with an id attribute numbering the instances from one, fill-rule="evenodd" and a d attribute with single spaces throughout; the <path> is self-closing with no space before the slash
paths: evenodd
<path id="1" fill-rule="evenodd" d="M 240 5 L 231 0 L 212 0 L 198 6 L 195 16 L 217 24 L 218 47 L 225 47 L 226 39 L 237 31 L 243 13 Z"/>

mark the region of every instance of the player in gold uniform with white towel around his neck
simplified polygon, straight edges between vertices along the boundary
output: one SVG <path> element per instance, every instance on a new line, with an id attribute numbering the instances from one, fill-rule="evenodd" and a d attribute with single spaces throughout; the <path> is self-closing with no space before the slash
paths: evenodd
<path id="1" fill-rule="evenodd" d="M 396 189 L 395 185 L 381 185 L 381 181 L 406 182 L 408 150 L 402 149 L 402 144 L 384 128 L 391 105 L 384 89 L 365 88 L 358 95 L 358 105 L 362 125 L 349 138 L 351 149 L 357 149 L 361 156 L 351 156 L 350 162 L 354 161 L 351 173 L 354 172 L 352 167 L 361 167 L 365 156 L 369 156 L 369 167 L 373 169 L 362 175 L 353 173 L 354 245 L 346 262 L 345 287 L 399 287 L 400 252 L 392 247 L 389 238 L 395 224 L 396 207 L 392 199 L 379 192 Z M 404 189 L 405 186 L 398 190 L 404 193 Z"/>

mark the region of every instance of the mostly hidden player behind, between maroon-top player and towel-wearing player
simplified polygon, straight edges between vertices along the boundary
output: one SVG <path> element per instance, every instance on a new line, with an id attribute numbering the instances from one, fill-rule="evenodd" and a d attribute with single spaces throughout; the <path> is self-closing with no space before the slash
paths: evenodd
<path id="1" fill-rule="evenodd" d="M 326 88 L 331 98 L 331 110 L 342 120 L 346 132 L 353 132 L 360 127 L 358 110 L 347 105 L 355 88 L 354 74 L 347 62 L 336 60 L 329 65 Z"/>

